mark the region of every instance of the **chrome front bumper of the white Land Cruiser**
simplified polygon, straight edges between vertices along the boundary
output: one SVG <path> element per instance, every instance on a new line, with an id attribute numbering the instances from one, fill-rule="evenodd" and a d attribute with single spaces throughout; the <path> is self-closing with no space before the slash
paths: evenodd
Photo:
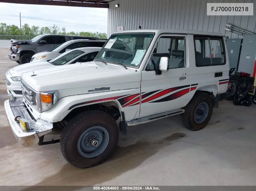
<path id="1" fill-rule="evenodd" d="M 5 101 L 5 112 L 15 138 L 24 146 L 36 145 L 39 142 L 39 137 L 52 131 L 52 123 L 37 119 L 32 119 L 27 108 L 23 103 L 23 99 L 15 101 Z M 15 117 L 20 116 L 28 120 L 30 129 L 25 131 L 21 124 L 15 121 Z"/>

